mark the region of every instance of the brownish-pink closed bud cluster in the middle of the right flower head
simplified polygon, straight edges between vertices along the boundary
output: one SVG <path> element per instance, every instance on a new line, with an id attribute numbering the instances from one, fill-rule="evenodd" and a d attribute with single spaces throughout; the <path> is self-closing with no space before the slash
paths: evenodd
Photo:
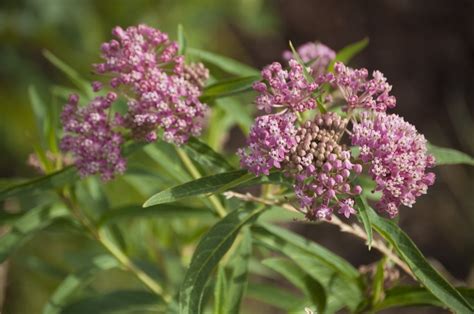
<path id="1" fill-rule="evenodd" d="M 351 196 L 362 188 L 352 187 L 349 179 L 351 173 L 360 174 L 362 166 L 351 162 L 350 151 L 338 143 L 346 123 L 332 112 L 306 121 L 287 156 L 287 172 L 296 179 L 296 197 L 310 220 L 331 219 L 334 209 L 346 218 L 356 212 Z"/>

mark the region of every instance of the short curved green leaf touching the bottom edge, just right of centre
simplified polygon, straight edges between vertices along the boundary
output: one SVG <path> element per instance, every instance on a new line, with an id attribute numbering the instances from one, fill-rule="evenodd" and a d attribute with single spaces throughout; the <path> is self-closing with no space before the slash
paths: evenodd
<path id="1" fill-rule="evenodd" d="M 318 312 L 324 312 L 326 308 L 326 292 L 317 280 L 285 258 L 267 258 L 262 261 L 262 264 L 276 271 L 298 289 L 302 290 L 308 299 L 317 306 Z"/>

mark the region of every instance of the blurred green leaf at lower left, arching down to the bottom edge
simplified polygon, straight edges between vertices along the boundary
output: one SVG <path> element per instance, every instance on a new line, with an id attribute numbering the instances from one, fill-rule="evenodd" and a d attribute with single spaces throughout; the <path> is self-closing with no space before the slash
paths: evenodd
<path id="1" fill-rule="evenodd" d="M 92 259 L 91 264 L 80 271 L 68 275 L 56 288 L 45 305 L 43 314 L 58 314 L 71 301 L 72 297 L 89 284 L 94 276 L 101 271 L 118 267 L 117 260 L 109 255 L 99 255 Z"/>

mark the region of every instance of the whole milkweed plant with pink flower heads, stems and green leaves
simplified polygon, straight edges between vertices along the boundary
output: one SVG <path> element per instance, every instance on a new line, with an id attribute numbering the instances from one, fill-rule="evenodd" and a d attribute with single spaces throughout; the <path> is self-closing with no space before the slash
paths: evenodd
<path id="1" fill-rule="evenodd" d="M 433 167 L 474 159 L 429 144 L 397 114 L 380 71 L 348 65 L 366 40 L 338 53 L 290 45 L 258 71 L 186 47 L 182 27 L 179 42 L 146 25 L 112 34 L 90 82 L 45 53 L 78 88 L 60 96 L 61 126 L 54 114 L 40 126 L 29 162 L 44 175 L 0 191 L 15 210 L 2 213 L 2 262 L 53 225 L 88 244 L 77 250 L 92 258 L 57 283 L 44 313 L 251 313 L 250 299 L 298 313 L 474 311 L 473 291 L 437 272 L 393 219 L 429 194 Z M 224 153 L 231 126 L 246 144 Z M 292 219 L 337 225 L 382 257 L 358 270 L 277 224 Z M 86 291 L 111 269 L 135 280 Z"/>

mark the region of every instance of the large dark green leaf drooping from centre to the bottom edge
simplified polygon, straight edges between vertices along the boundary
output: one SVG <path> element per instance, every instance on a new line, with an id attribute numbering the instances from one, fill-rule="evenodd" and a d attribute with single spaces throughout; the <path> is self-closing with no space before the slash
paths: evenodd
<path id="1" fill-rule="evenodd" d="M 235 210 L 216 223 L 202 237 L 194 252 L 180 289 L 180 313 L 199 313 L 207 280 L 219 260 L 232 246 L 240 229 L 263 211 Z"/>

